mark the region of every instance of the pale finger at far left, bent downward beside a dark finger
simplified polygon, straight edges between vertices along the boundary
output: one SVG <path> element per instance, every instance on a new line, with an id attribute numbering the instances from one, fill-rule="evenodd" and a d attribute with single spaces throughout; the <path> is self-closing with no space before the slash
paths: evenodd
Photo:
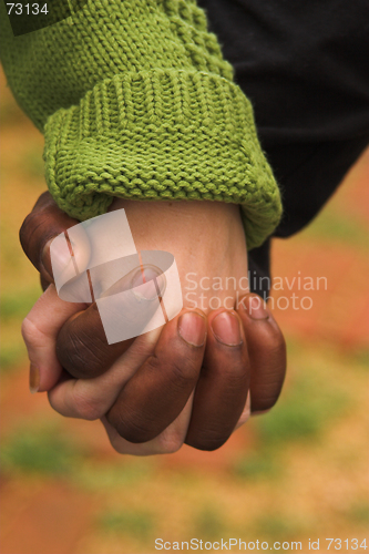
<path id="1" fill-rule="evenodd" d="M 57 383 L 62 369 L 55 355 L 59 329 L 83 306 L 64 302 L 59 298 L 54 285 L 50 285 L 24 318 L 22 336 L 31 362 L 32 392 L 43 392 Z"/>

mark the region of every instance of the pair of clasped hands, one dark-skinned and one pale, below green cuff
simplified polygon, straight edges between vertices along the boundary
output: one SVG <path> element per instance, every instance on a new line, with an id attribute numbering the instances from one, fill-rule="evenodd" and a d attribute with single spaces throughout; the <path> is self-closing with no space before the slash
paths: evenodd
<path id="1" fill-rule="evenodd" d="M 22 327 L 38 390 L 64 416 L 102 419 L 119 452 L 173 452 L 184 442 L 215 450 L 250 410 L 274 406 L 286 368 L 283 335 L 256 295 L 240 290 L 237 302 L 237 290 L 205 291 L 226 306 L 213 311 L 199 286 L 186 298 L 188 271 L 198 283 L 208 277 L 206 286 L 247 275 L 238 206 L 115 199 L 111 209 L 122 207 L 139 250 L 175 256 L 184 309 L 162 329 L 107 345 L 96 307 L 64 302 L 50 285 Z M 21 243 L 44 287 L 52 281 L 50 239 L 76 223 L 48 193 L 25 219 Z M 75 253 L 81 263 L 86 249 Z"/>

